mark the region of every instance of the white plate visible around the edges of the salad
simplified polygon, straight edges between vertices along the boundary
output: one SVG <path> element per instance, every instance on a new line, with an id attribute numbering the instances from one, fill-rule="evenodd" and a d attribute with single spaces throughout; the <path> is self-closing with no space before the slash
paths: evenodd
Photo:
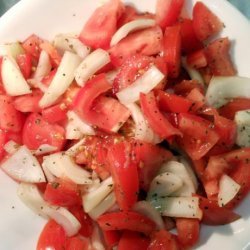
<path id="1" fill-rule="evenodd" d="M 186 0 L 186 9 L 196 0 Z M 51 39 L 60 32 L 79 32 L 100 0 L 22 0 L 1 17 L 0 43 L 31 33 Z M 130 0 L 141 11 L 153 11 L 156 0 Z M 250 77 L 250 25 L 224 0 L 203 0 L 225 24 L 223 36 L 233 43 L 239 75 Z M 0 171 L 0 250 L 32 250 L 45 223 L 16 197 L 16 184 Z M 250 249 L 250 199 L 238 209 L 241 220 L 221 227 L 202 227 L 197 249 Z"/>

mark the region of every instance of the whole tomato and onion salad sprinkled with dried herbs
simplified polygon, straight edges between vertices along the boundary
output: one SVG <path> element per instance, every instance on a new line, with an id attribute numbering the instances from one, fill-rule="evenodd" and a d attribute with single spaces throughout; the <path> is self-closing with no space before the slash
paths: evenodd
<path id="1" fill-rule="evenodd" d="M 78 35 L 4 45 L 1 169 L 48 219 L 37 250 L 189 249 L 202 224 L 240 218 L 250 80 L 223 20 L 183 6 L 109 0 Z"/>

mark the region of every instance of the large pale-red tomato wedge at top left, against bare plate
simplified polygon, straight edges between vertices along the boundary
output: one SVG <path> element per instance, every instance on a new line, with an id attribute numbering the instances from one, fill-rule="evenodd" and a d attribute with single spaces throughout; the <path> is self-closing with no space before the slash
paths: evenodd
<path id="1" fill-rule="evenodd" d="M 117 20 L 124 6 L 120 0 L 110 0 L 97 8 L 84 25 L 79 39 L 86 45 L 96 49 L 107 49 L 117 28 Z"/>

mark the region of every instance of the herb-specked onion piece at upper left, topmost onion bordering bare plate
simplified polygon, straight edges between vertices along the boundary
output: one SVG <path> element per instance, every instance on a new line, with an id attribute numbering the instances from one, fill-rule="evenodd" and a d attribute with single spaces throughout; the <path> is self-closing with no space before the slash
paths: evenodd
<path id="1" fill-rule="evenodd" d="M 53 44 L 62 55 L 65 51 L 70 51 L 84 59 L 90 53 L 88 46 L 84 45 L 78 38 L 68 34 L 56 35 Z"/>

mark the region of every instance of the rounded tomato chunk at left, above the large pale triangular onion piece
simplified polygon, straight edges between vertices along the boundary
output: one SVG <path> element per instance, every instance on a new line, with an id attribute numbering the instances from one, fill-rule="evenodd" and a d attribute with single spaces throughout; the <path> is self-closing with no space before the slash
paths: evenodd
<path id="1" fill-rule="evenodd" d="M 40 114 L 32 113 L 23 127 L 23 143 L 29 149 L 38 149 L 42 144 L 49 144 L 60 151 L 65 143 L 65 131 L 63 127 L 45 121 Z"/>

